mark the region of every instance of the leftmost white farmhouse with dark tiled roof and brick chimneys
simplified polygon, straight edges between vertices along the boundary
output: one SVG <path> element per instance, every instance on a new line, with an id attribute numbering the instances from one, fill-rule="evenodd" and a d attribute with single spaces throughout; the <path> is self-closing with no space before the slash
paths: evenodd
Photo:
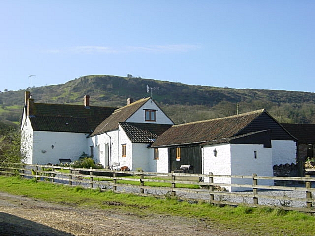
<path id="1" fill-rule="evenodd" d="M 77 160 L 88 153 L 87 136 L 116 108 L 35 103 L 25 92 L 21 122 L 21 152 L 28 164 L 57 164 L 61 158 Z"/>

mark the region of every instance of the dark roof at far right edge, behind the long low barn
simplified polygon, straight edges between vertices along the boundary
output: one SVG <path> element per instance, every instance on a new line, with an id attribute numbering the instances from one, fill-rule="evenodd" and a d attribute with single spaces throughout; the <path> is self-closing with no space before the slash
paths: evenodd
<path id="1" fill-rule="evenodd" d="M 315 124 L 285 124 L 282 126 L 296 137 L 299 143 L 315 143 Z"/>

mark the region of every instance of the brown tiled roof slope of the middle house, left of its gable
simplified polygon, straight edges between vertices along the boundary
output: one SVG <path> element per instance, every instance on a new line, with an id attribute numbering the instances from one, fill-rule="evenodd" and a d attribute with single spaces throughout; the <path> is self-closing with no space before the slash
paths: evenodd
<path id="1" fill-rule="evenodd" d="M 135 101 L 125 107 L 118 108 L 107 119 L 101 122 L 91 134 L 91 136 L 103 134 L 108 131 L 118 129 L 118 122 L 125 122 L 133 113 L 143 106 L 150 97 Z"/>

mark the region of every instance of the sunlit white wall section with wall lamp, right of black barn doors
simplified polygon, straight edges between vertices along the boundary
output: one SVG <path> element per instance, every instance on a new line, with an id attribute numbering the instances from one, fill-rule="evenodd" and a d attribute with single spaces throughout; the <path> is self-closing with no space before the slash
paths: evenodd
<path id="1" fill-rule="evenodd" d="M 214 155 L 217 150 L 217 156 Z M 212 172 L 214 175 L 231 175 L 231 145 L 211 145 L 202 148 L 203 174 Z M 204 179 L 209 182 L 209 179 Z M 214 178 L 215 183 L 231 183 L 231 178 Z M 218 184 L 229 189 L 229 187 Z"/>

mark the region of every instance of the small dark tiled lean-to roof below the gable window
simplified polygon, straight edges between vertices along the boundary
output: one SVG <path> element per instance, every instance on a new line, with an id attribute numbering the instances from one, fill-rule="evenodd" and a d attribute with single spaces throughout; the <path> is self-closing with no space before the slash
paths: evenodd
<path id="1" fill-rule="evenodd" d="M 153 143 L 172 125 L 148 123 L 119 123 L 132 143 Z"/>

